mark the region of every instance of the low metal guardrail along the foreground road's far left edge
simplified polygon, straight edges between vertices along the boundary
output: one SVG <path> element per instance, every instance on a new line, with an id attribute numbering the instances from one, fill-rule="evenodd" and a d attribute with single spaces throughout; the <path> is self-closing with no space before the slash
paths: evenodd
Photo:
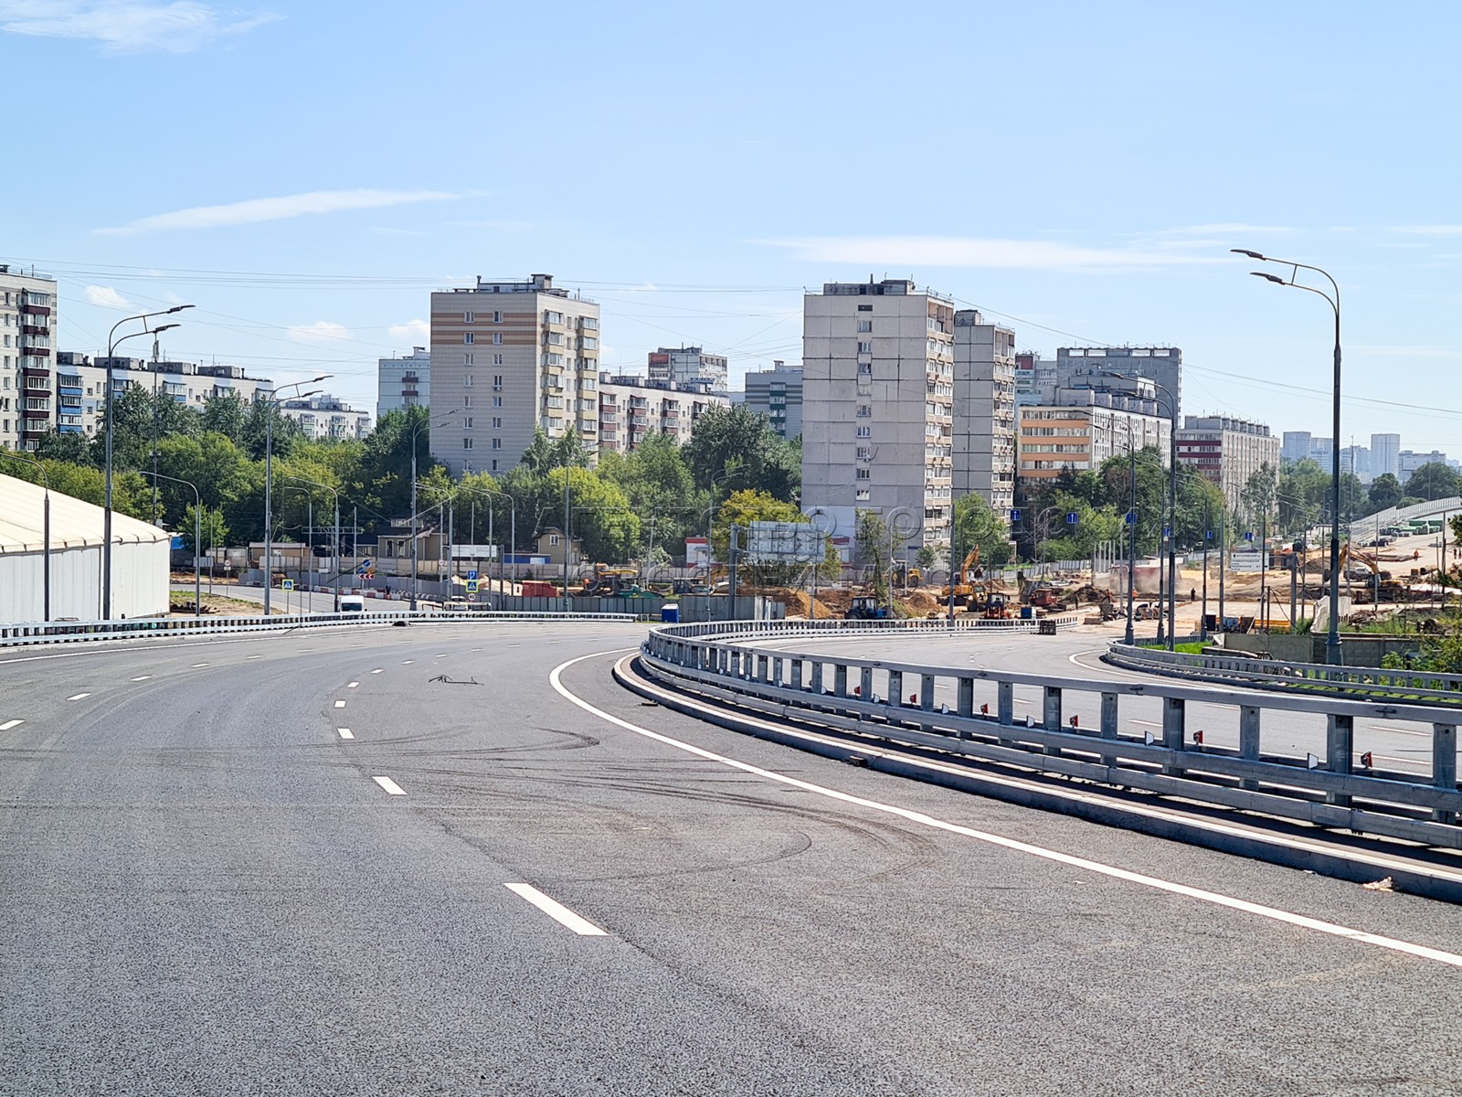
<path id="1" fill-rule="evenodd" d="M 537 613 L 522 610 L 404 610 L 401 613 L 298 613 L 270 617 L 145 617 L 137 620 L 23 622 L 0 625 L 0 648 L 29 644 L 83 644 L 162 636 L 206 636 L 231 632 L 395 625 L 396 622 L 465 620 L 613 620 L 635 622 L 633 613 Z"/>

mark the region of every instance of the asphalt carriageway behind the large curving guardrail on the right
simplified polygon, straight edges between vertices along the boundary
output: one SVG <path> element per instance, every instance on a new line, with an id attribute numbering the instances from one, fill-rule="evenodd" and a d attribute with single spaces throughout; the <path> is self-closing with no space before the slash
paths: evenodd
<path id="1" fill-rule="evenodd" d="M 776 648 L 782 651 L 803 651 L 808 654 L 845 655 L 867 660 L 893 660 L 899 663 L 920 663 L 936 667 L 984 667 L 988 670 L 1013 670 L 1025 674 L 1051 674 L 1067 679 L 1086 679 L 1102 682 L 1171 682 L 1180 679 L 1164 679 L 1136 671 L 1110 667 L 1101 661 L 1107 651 L 1110 633 L 1104 632 L 1064 632 L 1057 636 L 1031 635 L 1001 635 L 997 632 L 963 632 L 952 636 L 940 635 L 911 635 L 911 636 L 880 636 L 870 633 L 867 638 L 842 639 L 768 639 L 759 641 L 757 646 Z M 883 692 L 882 677 L 874 677 L 876 687 Z M 1213 689 L 1232 695 L 1232 689 L 1213 683 L 1190 682 L 1199 689 Z M 905 693 L 918 689 L 918 682 L 905 680 Z M 1266 695 L 1256 693 L 1260 699 Z M 1272 693 L 1269 696 L 1273 696 Z M 955 708 L 956 696 L 952 685 L 940 685 L 934 693 L 936 705 L 947 704 Z M 1066 690 L 1063 698 L 1063 714 L 1076 715 L 1082 727 L 1101 725 L 1101 698 L 1098 693 L 1080 693 Z M 990 711 L 996 711 L 994 689 L 987 687 L 981 695 L 977 686 L 977 702 L 990 704 Z M 1151 731 L 1158 739 L 1162 737 L 1162 705 L 1158 698 L 1123 698 L 1118 717 L 1124 734 L 1142 736 Z M 1015 717 L 1020 720 L 1029 715 L 1037 723 L 1041 721 L 1042 701 L 1037 687 L 1018 686 L 1015 690 Z M 1205 744 L 1238 746 L 1238 708 L 1237 705 L 1208 705 L 1190 704 L 1187 706 L 1189 734 L 1203 730 Z M 1266 711 L 1262 720 L 1262 744 L 1265 753 L 1289 755 L 1304 758 L 1313 753 L 1325 758 L 1325 717 L 1303 712 Z M 1371 752 L 1377 768 L 1395 769 L 1408 774 L 1431 774 L 1431 725 L 1404 720 L 1357 720 L 1354 755 Z M 1357 761 L 1355 765 L 1360 765 Z"/>

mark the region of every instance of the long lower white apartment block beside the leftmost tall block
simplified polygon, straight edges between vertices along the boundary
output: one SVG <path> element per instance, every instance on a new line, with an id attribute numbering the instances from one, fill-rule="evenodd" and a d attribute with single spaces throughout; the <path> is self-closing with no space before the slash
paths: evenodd
<path id="1" fill-rule="evenodd" d="M 273 382 L 250 377 L 243 366 L 203 366 L 193 361 L 148 361 L 111 358 L 113 393 L 129 385 L 165 392 L 178 404 L 202 411 L 213 396 L 237 395 L 246 404 L 273 395 Z M 107 404 L 107 357 L 92 358 L 75 351 L 56 355 L 57 430 L 95 434 Z"/>

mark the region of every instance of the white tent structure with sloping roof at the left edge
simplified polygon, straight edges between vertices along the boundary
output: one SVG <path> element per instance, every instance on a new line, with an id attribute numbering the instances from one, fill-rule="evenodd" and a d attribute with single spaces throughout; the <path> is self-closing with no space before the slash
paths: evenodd
<path id="1" fill-rule="evenodd" d="M 45 616 L 45 490 L 0 475 L 0 622 Z M 102 518 L 80 499 L 51 491 L 51 620 L 101 617 Z M 168 611 L 171 535 L 111 515 L 111 616 Z"/>

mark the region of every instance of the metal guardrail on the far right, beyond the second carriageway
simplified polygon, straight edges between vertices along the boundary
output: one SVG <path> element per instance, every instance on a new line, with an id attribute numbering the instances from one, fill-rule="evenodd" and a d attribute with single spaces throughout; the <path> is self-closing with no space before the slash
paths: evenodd
<path id="1" fill-rule="evenodd" d="M 1374 698 L 1424 699 L 1462 706 L 1462 674 L 1440 674 L 1380 667 L 1333 667 L 1327 663 L 1281 663 L 1251 655 L 1203 655 L 1111 644 L 1107 661 L 1127 670 L 1146 670 L 1202 682 L 1235 682 L 1292 693 L 1330 690 Z"/>

